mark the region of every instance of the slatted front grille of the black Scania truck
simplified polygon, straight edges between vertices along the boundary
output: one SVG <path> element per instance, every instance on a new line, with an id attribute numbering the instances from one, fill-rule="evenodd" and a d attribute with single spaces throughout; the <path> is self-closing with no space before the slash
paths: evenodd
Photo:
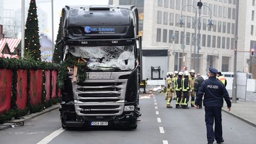
<path id="1" fill-rule="evenodd" d="M 123 113 L 127 79 L 111 81 L 76 83 L 76 114 L 79 116 L 118 116 Z"/>

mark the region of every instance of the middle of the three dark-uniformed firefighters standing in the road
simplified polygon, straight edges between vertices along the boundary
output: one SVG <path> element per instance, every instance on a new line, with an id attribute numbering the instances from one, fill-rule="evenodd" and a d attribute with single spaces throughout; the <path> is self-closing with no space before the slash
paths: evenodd
<path id="1" fill-rule="evenodd" d="M 188 71 L 184 72 L 184 78 L 183 78 L 183 101 L 181 103 L 181 108 L 184 109 L 188 109 L 188 100 L 189 100 L 189 95 L 188 92 L 190 91 L 190 81 L 188 79 L 188 76 L 190 75 L 190 73 L 188 73 Z"/>

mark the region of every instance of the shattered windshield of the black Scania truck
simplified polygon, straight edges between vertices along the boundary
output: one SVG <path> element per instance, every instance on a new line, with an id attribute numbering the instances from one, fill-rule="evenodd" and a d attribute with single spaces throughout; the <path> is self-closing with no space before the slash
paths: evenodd
<path id="1" fill-rule="evenodd" d="M 69 51 L 75 57 L 88 61 L 91 70 L 133 70 L 135 68 L 134 46 L 73 46 Z"/>

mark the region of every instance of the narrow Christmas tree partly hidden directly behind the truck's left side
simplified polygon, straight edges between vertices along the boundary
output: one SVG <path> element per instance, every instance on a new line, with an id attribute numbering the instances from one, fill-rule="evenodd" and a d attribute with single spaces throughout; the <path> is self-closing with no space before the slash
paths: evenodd
<path id="1" fill-rule="evenodd" d="M 54 63 L 60 63 L 60 61 L 62 60 L 62 45 L 59 44 L 57 45 L 57 43 L 62 39 L 62 32 L 61 32 L 61 28 L 62 28 L 62 17 L 60 17 L 60 23 L 59 23 L 59 31 L 57 33 L 57 39 L 55 41 L 55 51 L 53 53 L 53 61 Z"/>

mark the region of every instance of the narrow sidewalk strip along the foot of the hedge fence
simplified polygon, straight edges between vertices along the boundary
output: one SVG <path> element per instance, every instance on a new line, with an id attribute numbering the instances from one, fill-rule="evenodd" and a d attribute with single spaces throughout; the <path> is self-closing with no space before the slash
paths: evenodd
<path id="1" fill-rule="evenodd" d="M 50 111 L 56 110 L 59 108 L 59 104 L 52 105 L 52 107 L 46 108 L 45 110 L 39 113 L 28 114 L 24 116 L 24 119 L 20 120 L 9 120 L 7 123 L 0 124 L 0 130 L 8 129 L 9 127 L 23 126 L 26 121 L 34 119 L 42 114 L 48 113 Z"/>

